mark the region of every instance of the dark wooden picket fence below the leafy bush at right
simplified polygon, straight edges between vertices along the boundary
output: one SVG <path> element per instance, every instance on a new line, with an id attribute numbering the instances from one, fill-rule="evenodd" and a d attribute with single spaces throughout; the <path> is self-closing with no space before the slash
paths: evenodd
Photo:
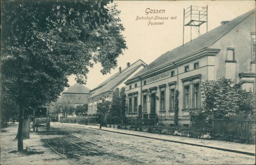
<path id="1" fill-rule="evenodd" d="M 212 118 L 214 139 L 255 144 L 255 116 L 238 114 L 231 117 Z"/>

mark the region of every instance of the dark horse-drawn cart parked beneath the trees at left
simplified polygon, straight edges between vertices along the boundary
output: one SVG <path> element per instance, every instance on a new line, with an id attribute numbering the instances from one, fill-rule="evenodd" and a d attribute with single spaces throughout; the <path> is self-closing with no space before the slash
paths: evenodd
<path id="1" fill-rule="evenodd" d="M 33 131 L 38 132 L 38 127 L 46 125 L 46 130 L 50 131 L 50 118 L 47 116 L 47 108 L 37 108 L 34 111 Z"/>

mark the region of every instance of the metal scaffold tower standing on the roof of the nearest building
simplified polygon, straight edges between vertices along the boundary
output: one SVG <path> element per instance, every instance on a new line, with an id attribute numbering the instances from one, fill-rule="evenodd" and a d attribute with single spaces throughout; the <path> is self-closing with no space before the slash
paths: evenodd
<path id="1" fill-rule="evenodd" d="M 207 6 L 198 7 L 191 5 L 187 9 L 184 9 L 183 18 L 183 45 L 184 45 L 184 32 L 185 26 L 190 26 L 190 42 L 192 41 L 192 27 L 198 36 L 202 35 L 200 32 L 200 26 L 206 23 L 206 32 L 208 31 L 208 17 Z"/>

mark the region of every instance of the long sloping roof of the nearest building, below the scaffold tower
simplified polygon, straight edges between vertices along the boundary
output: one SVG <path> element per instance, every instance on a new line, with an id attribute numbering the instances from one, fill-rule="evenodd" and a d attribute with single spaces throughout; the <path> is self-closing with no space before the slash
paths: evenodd
<path id="1" fill-rule="evenodd" d="M 147 65 L 147 67 L 143 68 L 134 75 L 133 78 L 136 78 L 144 73 L 147 73 L 153 69 L 157 69 L 164 64 L 168 64 L 170 62 L 175 61 L 181 57 L 184 57 L 190 53 L 200 50 L 204 47 L 212 46 L 215 42 L 220 40 L 223 36 L 225 36 L 228 32 L 230 32 L 234 27 L 240 24 L 244 19 L 249 17 L 249 15 L 255 13 L 255 9 L 250 10 L 249 12 L 240 15 L 239 17 L 229 21 L 228 23 L 216 27 L 214 30 L 207 32 L 204 35 L 201 35 L 198 38 L 195 38 L 191 42 L 185 43 L 184 46 L 179 46 L 172 51 L 162 54 L 162 56 L 158 57 L 151 64 Z"/>

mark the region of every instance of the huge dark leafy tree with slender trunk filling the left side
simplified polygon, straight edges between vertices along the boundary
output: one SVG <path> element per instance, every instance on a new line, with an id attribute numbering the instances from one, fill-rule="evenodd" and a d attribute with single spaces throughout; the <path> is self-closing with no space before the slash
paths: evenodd
<path id="1" fill-rule="evenodd" d="M 14 107 L 19 114 L 18 151 L 23 151 L 23 123 L 30 123 L 33 109 L 57 100 L 69 75 L 85 84 L 94 63 L 102 64 L 102 74 L 117 66 L 126 49 L 124 27 L 116 5 L 109 4 L 1 2 L 1 113 L 8 118 Z"/>

